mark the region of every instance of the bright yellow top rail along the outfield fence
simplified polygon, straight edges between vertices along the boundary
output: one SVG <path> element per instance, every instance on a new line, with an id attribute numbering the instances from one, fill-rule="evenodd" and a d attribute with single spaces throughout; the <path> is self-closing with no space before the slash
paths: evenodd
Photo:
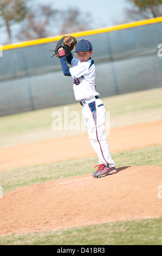
<path id="1" fill-rule="evenodd" d="M 135 21 L 135 22 L 125 23 L 122 25 L 117 25 L 117 26 L 112 26 L 112 27 L 77 32 L 77 33 L 73 33 L 73 36 L 75 36 L 77 38 L 79 36 L 87 36 L 87 35 L 93 35 L 93 34 L 99 34 L 99 33 L 106 33 L 106 32 L 116 31 L 116 30 L 120 30 L 120 29 L 149 25 L 149 24 L 158 23 L 158 22 L 162 22 L 162 17 L 157 17 L 157 18 L 148 19 L 148 20 Z M 41 38 L 41 39 L 30 40 L 30 41 L 16 42 L 14 44 L 9 44 L 9 45 L 3 45 L 2 50 L 5 51 L 5 50 L 11 50 L 14 48 L 27 47 L 27 46 L 38 45 L 38 44 L 46 44 L 47 42 L 58 41 L 62 38 L 62 36 L 63 35 L 57 35 L 57 36 L 51 36 L 48 38 Z"/>

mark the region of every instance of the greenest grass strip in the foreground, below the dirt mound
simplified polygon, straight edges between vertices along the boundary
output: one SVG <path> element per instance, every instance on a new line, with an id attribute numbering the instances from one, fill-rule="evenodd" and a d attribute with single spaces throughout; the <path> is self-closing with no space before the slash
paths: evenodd
<path id="1" fill-rule="evenodd" d="M 0 237 L 0 245 L 161 245 L 161 221 L 152 218 L 12 234 Z"/>

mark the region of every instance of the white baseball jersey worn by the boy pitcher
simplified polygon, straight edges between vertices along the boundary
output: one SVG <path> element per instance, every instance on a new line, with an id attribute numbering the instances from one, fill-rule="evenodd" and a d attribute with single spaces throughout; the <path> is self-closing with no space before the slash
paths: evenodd
<path id="1" fill-rule="evenodd" d="M 74 95 L 77 101 L 91 99 L 96 95 L 95 66 L 92 59 L 87 62 L 80 62 L 79 59 L 72 59 L 70 74 L 74 78 Z"/>

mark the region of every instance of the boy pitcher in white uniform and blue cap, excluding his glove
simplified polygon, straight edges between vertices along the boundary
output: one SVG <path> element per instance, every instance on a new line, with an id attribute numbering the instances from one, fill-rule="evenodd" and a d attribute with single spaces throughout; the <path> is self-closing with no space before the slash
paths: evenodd
<path id="1" fill-rule="evenodd" d="M 98 169 L 92 175 L 100 178 L 116 173 L 116 169 L 106 139 L 105 107 L 96 92 L 95 66 L 91 59 L 92 44 L 82 39 L 77 42 L 74 52 L 78 59 L 73 58 L 70 53 L 67 57 L 60 58 L 61 66 L 65 76 L 74 78 L 75 99 L 82 105 L 89 141 L 99 157 L 99 166 L 95 166 Z M 72 68 L 69 68 L 67 63 L 71 64 Z"/>

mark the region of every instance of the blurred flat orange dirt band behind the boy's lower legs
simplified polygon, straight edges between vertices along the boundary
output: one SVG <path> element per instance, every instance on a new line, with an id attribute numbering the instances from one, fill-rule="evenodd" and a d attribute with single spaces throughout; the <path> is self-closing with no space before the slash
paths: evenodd
<path id="1" fill-rule="evenodd" d="M 162 120 L 111 129 L 111 153 L 162 144 Z M 88 133 L 0 148 L 0 171 L 96 155 Z"/>

